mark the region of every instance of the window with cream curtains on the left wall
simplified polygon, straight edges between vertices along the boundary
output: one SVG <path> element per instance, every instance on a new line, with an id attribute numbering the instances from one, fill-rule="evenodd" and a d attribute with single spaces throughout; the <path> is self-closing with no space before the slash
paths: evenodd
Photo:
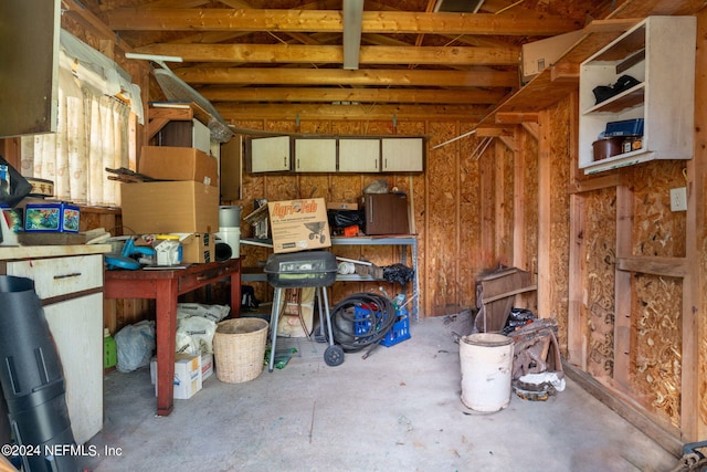
<path id="1" fill-rule="evenodd" d="M 21 172 L 54 181 L 57 199 L 119 206 L 118 185 L 105 169 L 135 161 L 139 88 L 113 61 L 65 31 L 60 54 L 56 133 L 22 137 Z"/>

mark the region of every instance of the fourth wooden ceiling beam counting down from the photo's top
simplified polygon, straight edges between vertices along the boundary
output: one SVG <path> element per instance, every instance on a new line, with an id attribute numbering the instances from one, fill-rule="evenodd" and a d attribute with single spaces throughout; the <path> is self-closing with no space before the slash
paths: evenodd
<path id="1" fill-rule="evenodd" d="M 409 90 L 344 87 L 219 87 L 199 91 L 210 102 L 358 102 L 358 103 L 449 103 L 458 105 L 495 104 L 500 91 Z"/>

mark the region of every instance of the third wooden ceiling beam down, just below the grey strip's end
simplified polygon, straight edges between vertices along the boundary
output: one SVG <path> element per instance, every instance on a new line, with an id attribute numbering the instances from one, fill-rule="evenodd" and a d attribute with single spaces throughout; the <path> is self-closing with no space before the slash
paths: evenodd
<path id="1" fill-rule="evenodd" d="M 225 85 L 369 85 L 437 87 L 515 87 L 516 72 L 503 71 L 416 71 L 366 69 L 292 67 L 182 67 L 175 74 L 189 84 Z"/>

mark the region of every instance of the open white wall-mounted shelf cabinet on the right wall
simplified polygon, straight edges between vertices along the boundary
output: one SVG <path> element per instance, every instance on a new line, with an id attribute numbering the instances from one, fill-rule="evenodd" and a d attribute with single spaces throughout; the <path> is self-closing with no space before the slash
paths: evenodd
<path id="1" fill-rule="evenodd" d="M 695 17 L 648 17 L 581 64 L 579 167 L 585 174 L 692 159 L 695 44 Z M 598 103 L 595 87 L 612 87 L 626 75 L 637 83 Z M 592 143 L 608 123 L 636 119 L 643 119 L 643 134 L 626 144 L 627 151 L 594 160 Z"/>

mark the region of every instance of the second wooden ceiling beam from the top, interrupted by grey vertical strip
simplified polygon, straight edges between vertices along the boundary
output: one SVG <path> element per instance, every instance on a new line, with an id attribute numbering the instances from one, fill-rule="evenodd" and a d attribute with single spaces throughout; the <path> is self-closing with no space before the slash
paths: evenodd
<path id="1" fill-rule="evenodd" d="M 150 44 L 136 50 L 144 54 L 171 55 L 184 62 L 340 64 L 340 45 L 303 44 Z M 361 46 L 360 64 L 513 65 L 518 48 Z"/>

